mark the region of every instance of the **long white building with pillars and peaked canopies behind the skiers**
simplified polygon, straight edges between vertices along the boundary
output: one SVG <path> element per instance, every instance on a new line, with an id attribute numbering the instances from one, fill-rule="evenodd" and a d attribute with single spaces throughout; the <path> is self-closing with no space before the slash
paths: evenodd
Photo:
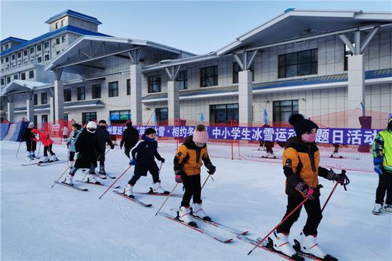
<path id="1" fill-rule="evenodd" d="M 51 29 L 63 17 L 71 21 L 69 12 L 49 19 Z M 262 122 L 266 108 L 270 122 L 299 111 L 325 116 L 325 126 L 359 127 L 361 115 L 331 116 L 362 106 L 392 111 L 391 26 L 392 13 L 386 12 L 287 9 L 205 55 L 151 41 L 79 34 L 41 71 L 53 81 L 11 78 L 2 98 L 11 121 L 34 115 L 39 123 L 49 115 L 49 121 L 121 123 L 131 117 L 135 124 L 151 124 L 155 112 L 158 121 L 170 124 L 177 118 L 199 121 L 203 114 L 207 123 L 234 119 L 251 125 Z M 13 49 L 16 55 L 23 51 Z M 3 51 L 1 59 L 4 53 L 12 55 Z M 54 98 L 32 106 L 40 93 Z"/>

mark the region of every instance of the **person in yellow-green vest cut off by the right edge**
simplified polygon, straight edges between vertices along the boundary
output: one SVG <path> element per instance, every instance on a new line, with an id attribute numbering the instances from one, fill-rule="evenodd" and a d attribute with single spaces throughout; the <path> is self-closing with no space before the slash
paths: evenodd
<path id="1" fill-rule="evenodd" d="M 380 131 L 372 145 L 374 171 L 378 174 L 376 204 L 373 214 L 380 215 L 381 210 L 392 212 L 392 118 L 385 131 Z M 383 205 L 386 194 L 385 205 Z"/>

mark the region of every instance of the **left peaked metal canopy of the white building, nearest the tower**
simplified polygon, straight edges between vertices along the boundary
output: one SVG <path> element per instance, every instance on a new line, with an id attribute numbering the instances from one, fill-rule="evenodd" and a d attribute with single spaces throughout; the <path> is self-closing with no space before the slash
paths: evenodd
<path id="1" fill-rule="evenodd" d="M 63 68 L 64 72 L 78 74 L 86 71 L 86 68 L 103 70 L 105 69 L 106 58 L 116 56 L 131 60 L 129 52 L 140 48 L 167 51 L 177 55 L 182 53 L 193 55 L 152 41 L 105 36 L 82 36 L 68 46 L 63 53 L 54 58 L 45 67 L 45 70 Z"/>

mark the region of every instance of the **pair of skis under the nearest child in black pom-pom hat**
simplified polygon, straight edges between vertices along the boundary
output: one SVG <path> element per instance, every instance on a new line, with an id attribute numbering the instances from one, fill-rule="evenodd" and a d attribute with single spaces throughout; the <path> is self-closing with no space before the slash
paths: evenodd
<path id="1" fill-rule="evenodd" d="M 284 255 L 282 252 L 278 252 L 277 250 L 274 250 L 274 247 L 272 246 L 273 242 L 272 242 L 272 240 L 270 238 L 267 239 L 268 241 L 267 241 L 266 245 L 263 245 L 263 243 L 259 244 L 259 240 L 262 240 L 261 237 L 257 238 L 257 240 L 252 240 L 251 238 L 249 238 L 249 237 L 247 237 L 245 235 L 237 235 L 237 238 L 239 240 L 247 242 L 247 243 L 249 243 L 251 245 L 257 246 L 257 247 L 261 248 L 262 250 L 267 250 L 268 252 L 272 252 L 272 253 L 274 253 L 276 255 L 279 255 L 279 256 L 283 257 L 284 259 L 287 259 L 287 260 L 302 261 L 302 260 L 305 260 L 305 258 L 309 258 L 311 260 L 316 260 L 316 261 L 323 261 L 323 260 L 324 261 L 337 261 L 337 259 L 335 257 L 329 256 L 329 258 L 322 259 L 322 258 L 319 258 L 319 257 L 315 257 L 314 255 L 309 255 L 309 254 L 306 254 L 305 252 L 302 252 L 301 251 L 301 246 L 299 245 L 298 240 L 294 240 L 294 244 L 295 245 L 293 246 L 293 248 L 294 248 L 294 250 L 296 250 L 297 258 L 293 258 L 293 257 L 289 257 L 287 255 Z"/>

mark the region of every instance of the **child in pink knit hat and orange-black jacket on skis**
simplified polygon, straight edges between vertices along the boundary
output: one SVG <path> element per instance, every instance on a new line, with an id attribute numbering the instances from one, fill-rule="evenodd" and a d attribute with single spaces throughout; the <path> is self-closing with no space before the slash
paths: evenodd
<path id="1" fill-rule="evenodd" d="M 180 145 L 174 158 L 175 181 L 182 183 L 185 188 L 178 218 L 180 221 L 192 226 L 196 225 L 190 218 L 190 199 L 192 197 L 192 215 L 207 221 L 211 220 L 202 209 L 202 188 L 200 185 L 200 168 L 203 163 L 205 163 L 205 167 L 210 175 L 213 175 L 216 170 L 208 156 L 207 141 L 208 133 L 205 126 L 202 124 L 197 125 L 193 135 L 190 135 L 185 140 L 185 143 Z"/>

